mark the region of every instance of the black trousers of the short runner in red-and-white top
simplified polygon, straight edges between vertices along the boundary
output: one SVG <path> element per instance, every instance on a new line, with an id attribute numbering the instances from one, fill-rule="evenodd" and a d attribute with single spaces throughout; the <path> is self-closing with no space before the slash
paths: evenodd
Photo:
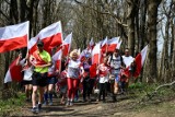
<path id="1" fill-rule="evenodd" d="M 107 82 L 100 83 L 98 85 L 100 85 L 98 101 L 101 101 L 101 95 L 103 95 L 103 101 L 105 101 L 106 91 L 107 91 Z"/>

